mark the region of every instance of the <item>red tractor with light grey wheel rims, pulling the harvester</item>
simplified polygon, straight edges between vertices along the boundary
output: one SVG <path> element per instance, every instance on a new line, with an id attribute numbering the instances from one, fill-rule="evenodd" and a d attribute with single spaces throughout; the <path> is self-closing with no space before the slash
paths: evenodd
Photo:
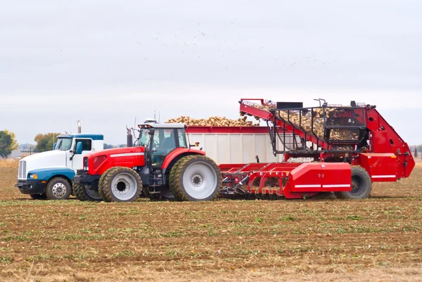
<path id="1" fill-rule="evenodd" d="M 184 124 L 139 125 L 137 146 L 84 157 L 74 177 L 79 200 L 132 202 L 150 198 L 212 200 L 221 188 L 219 167 L 186 140 Z M 79 153 L 79 152 L 77 152 Z"/>

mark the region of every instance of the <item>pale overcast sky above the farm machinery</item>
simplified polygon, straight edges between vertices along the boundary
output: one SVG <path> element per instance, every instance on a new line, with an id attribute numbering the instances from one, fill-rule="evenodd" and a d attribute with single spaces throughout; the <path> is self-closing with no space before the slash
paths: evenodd
<path id="1" fill-rule="evenodd" d="M 422 1 L 2 1 L 0 130 L 104 134 L 241 98 L 377 105 L 422 143 Z"/>

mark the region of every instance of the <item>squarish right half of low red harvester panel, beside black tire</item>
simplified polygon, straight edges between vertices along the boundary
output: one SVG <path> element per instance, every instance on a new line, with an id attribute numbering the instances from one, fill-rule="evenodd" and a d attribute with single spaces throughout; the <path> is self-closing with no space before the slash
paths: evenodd
<path id="1" fill-rule="evenodd" d="M 323 163 L 322 191 L 352 191 L 352 170 L 347 162 Z"/>

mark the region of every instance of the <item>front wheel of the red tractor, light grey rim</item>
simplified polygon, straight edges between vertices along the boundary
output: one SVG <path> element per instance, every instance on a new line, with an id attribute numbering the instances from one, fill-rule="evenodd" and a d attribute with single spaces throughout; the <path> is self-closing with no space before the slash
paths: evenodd
<path id="1" fill-rule="evenodd" d="M 133 202 L 141 196 L 141 177 L 129 167 L 112 167 L 101 175 L 98 191 L 107 202 Z"/>

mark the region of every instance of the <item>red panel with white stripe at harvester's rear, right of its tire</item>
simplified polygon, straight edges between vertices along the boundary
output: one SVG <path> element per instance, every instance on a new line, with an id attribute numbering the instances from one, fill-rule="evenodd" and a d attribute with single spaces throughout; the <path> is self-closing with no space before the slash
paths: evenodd
<path id="1" fill-rule="evenodd" d="M 397 181 L 397 156 L 393 153 L 362 153 L 362 167 L 373 182 Z"/>

